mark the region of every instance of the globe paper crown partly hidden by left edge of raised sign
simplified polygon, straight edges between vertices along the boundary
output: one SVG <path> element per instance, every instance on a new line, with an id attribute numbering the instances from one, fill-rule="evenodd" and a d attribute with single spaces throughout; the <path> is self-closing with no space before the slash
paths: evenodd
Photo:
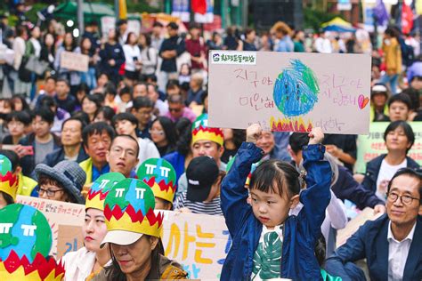
<path id="1" fill-rule="evenodd" d="M 198 116 L 192 124 L 192 144 L 197 141 L 214 141 L 223 146 L 223 130 L 208 127 L 208 115 Z"/>

